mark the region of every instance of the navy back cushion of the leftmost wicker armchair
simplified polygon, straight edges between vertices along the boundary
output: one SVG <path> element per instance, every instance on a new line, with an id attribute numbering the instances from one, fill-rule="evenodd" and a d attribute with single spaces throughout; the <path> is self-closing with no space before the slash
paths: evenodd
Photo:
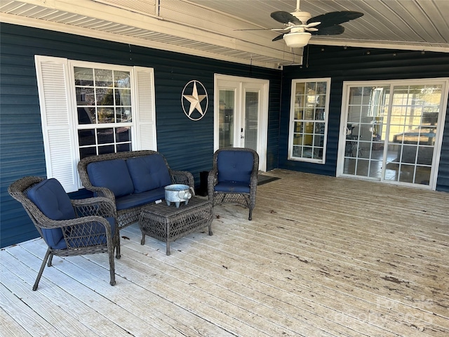
<path id="1" fill-rule="evenodd" d="M 69 196 L 56 179 L 42 180 L 41 183 L 34 185 L 27 195 L 47 218 L 52 220 L 76 218 Z M 67 248 L 60 228 L 42 229 L 42 236 L 52 249 Z"/>

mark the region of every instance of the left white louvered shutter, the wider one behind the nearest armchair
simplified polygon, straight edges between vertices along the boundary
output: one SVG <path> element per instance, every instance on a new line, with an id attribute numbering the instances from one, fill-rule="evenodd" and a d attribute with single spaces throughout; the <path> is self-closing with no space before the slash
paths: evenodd
<path id="1" fill-rule="evenodd" d="M 66 192 L 74 192 L 78 178 L 67 59 L 36 55 L 35 62 L 47 178 L 58 179 Z"/>

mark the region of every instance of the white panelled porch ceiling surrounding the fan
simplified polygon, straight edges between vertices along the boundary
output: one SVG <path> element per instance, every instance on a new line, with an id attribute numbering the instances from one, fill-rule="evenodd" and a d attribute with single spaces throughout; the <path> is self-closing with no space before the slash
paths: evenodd
<path id="1" fill-rule="evenodd" d="M 0 21 L 276 68 L 302 62 L 302 48 L 272 42 L 273 11 L 296 0 L 0 0 Z M 449 0 L 301 0 L 312 16 L 359 11 L 337 36 L 309 44 L 449 52 Z M 237 29 L 267 30 L 241 31 Z"/>

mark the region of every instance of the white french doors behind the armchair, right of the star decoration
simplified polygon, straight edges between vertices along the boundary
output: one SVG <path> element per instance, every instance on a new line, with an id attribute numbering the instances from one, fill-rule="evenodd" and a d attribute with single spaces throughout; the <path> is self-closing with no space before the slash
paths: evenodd
<path id="1" fill-rule="evenodd" d="M 266 171 L 269 81 L 215 75 L 214 150 L 249 147 Z"/>

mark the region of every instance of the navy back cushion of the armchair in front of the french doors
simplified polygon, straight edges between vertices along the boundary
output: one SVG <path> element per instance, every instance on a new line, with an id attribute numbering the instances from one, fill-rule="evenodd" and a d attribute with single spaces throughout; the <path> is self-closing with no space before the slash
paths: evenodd
<path id="1" fill-rule="evenodd" d="M 221 151 L 217 155 L 218 182 L 250 183 L 254 156 L 246 151 Z"/>

